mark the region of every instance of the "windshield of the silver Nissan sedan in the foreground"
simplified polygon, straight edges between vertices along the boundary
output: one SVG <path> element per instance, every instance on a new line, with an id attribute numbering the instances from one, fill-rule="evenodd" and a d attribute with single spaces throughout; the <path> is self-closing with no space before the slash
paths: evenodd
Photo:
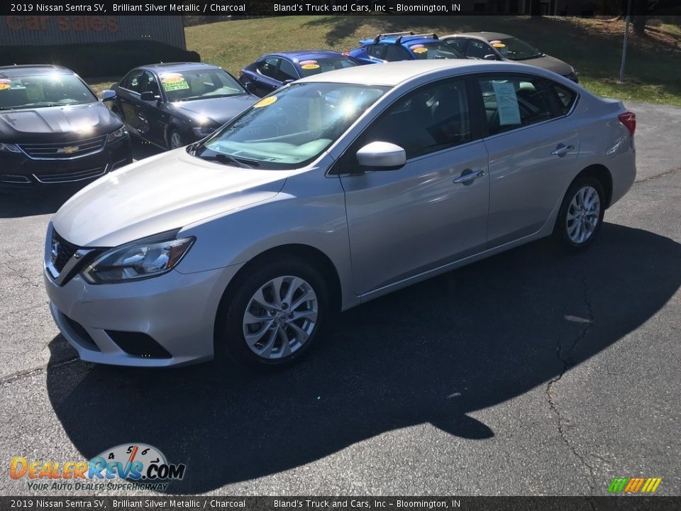
<path id="1" fill-rule="evenodd" d="M 389 87 L 299 83 L 261 99 L 189 153 L 267 170 L 306 165 L 336 141 Z"/>

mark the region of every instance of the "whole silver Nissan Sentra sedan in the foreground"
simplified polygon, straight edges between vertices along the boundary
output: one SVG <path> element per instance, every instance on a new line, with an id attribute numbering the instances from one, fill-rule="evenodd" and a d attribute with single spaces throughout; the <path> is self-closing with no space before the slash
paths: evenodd
<path id="1" fill-rule="evenodd" d="M 287 363 L 334 309 L 550 234 L 587 247 L 636 176 L 635 127 L 619 101 L 526 65 L 304 78 L 64 204 L 50 308 L 87 361 Z"/>

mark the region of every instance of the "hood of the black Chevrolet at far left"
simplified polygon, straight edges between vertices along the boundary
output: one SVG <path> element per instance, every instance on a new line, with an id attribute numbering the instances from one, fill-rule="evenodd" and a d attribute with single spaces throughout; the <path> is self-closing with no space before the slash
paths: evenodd
<path id="1" fill-rule="evenodd" d="M 87 138 L 109 133 L 120 126 L 123 126 L 121 119 L 99 101 L 0 112 L 0 138 L 4 142 Z"/>

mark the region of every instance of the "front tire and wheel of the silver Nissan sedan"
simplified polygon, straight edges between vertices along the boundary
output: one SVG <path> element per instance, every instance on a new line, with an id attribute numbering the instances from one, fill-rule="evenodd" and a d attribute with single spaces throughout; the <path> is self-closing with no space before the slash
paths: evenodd
<path id="1" fill-rule="evenodd" d="M 271 368 L 308 353 L 328 317 L 323 274 L 301 258 L 284 256 L 262 260 L 237 279 L 218 311 L 216 358 L 228 356 L 241 365 Z M 279 304 L 274 295 L 277 287 Z"/>

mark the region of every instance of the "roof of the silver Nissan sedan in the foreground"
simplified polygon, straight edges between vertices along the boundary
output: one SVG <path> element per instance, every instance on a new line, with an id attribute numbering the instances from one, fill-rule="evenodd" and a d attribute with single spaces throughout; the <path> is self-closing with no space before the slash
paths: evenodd
<path id="1" fill-rule="evenodd" d="M 431 60 L 400 60 L 384 64 L 371 64 L 346 67 L 342 70 L 328 71 L 320 75 L 301 78 L 297 83 L 304 82 L 332 82 L 348 84 L 395 85 L 406 82 L 419 75 L 436 74 L 441 70 L 455 69 L 456 74 L 485 71 L 525 71 L 543 75 L 543 70 L 517 62 L 492 62 L 489 60 L 470 59 L 431 59 Z"/>

